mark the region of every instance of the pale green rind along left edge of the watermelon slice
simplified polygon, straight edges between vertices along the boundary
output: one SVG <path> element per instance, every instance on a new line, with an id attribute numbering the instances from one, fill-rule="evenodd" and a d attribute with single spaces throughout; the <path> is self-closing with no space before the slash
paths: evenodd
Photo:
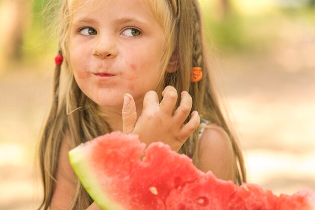
<path id="1" fill-rule="evenodd" d="M 93 170 L 89 167 L 89 161 L 85 155 L 87 151 L 84 147 L 85 146 L 81 144 L 69 151 L 70 164 L 78 179 L 81 180 L 82 185 L 89 192 L 92 199 L 95 200 L 98 206 L 103 210 L 124 210 L 121 205 L 111 201 L 108 194 L 101 188 L 97 177 L 92 173 Z M 90 189 L 91 186 L 93 186 L 93 190 Z"/>

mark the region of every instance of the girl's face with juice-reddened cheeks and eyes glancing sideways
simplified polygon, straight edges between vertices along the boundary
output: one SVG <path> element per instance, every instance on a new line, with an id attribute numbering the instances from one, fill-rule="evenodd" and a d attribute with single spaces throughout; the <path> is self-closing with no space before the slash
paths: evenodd
<path id="1" fill-rule="evenodd" d="M 137 104 L 161 75 L 165 33 L 141 0 L 87 1 L 74 10 L 70 63 L 82 91 L 101 108 Z"/>

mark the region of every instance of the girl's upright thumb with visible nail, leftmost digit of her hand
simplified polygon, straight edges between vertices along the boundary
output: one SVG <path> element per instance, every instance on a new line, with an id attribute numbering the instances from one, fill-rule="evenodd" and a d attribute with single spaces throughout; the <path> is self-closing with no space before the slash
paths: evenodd
<path id="1" fill-rule="evenodd" d="M 133 131 L 137 121 L 136 105 L 133 97 L 126 93 L 124 94 L 124 104 L 122 107 L 122 131 L 129 134 Z"/>

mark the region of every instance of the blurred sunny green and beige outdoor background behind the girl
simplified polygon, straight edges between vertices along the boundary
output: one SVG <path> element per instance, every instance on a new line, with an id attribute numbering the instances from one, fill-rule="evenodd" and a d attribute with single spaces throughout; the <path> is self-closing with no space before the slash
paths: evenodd
<path id="1" fill-rule="evenodd" d="M 315 1 L 200 3 L 249 182 L 276 194 L 315 190 Z M 0 209 L 40 202 L 35 153 L 50 106 L 55 13 L 45 0 L 0 0 Z"/>

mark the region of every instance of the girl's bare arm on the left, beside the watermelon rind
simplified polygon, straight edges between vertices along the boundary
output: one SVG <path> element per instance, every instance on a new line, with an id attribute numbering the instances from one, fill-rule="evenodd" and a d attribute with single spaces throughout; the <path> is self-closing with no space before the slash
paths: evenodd
<path id="1" fill-rule="evenodd" d="M 75 197 L 78 179 L 69 162 L 68 152 L 70 149 L 69 144 L 63 141 L 60 148 L 56 185 L 49 207 L 50 210 L 70 209 Z M 101 210 L 101 208 L 93 202 L 87 210 Z"/>

